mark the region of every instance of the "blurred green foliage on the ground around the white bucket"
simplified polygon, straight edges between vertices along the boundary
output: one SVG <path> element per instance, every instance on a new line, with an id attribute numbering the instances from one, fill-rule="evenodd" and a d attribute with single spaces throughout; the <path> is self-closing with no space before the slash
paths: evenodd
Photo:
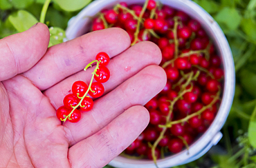
<path id="1" fill-rule="evenodd" d="M 0 39 L 28 30 L 41 21 L 48 25 L 51 32 L 49 46 L 62 43 L 68 20 L 90 2 L 91 0 L 0 0 Z M 194 2 L 210 13 L 226 34 L 235 61 L 237 81 L 234 103 L 226 125 L 221 129 L 223 138 L 220 143 L 202 158 L 176 168 L 255 168 L 256 0 Z"/>

